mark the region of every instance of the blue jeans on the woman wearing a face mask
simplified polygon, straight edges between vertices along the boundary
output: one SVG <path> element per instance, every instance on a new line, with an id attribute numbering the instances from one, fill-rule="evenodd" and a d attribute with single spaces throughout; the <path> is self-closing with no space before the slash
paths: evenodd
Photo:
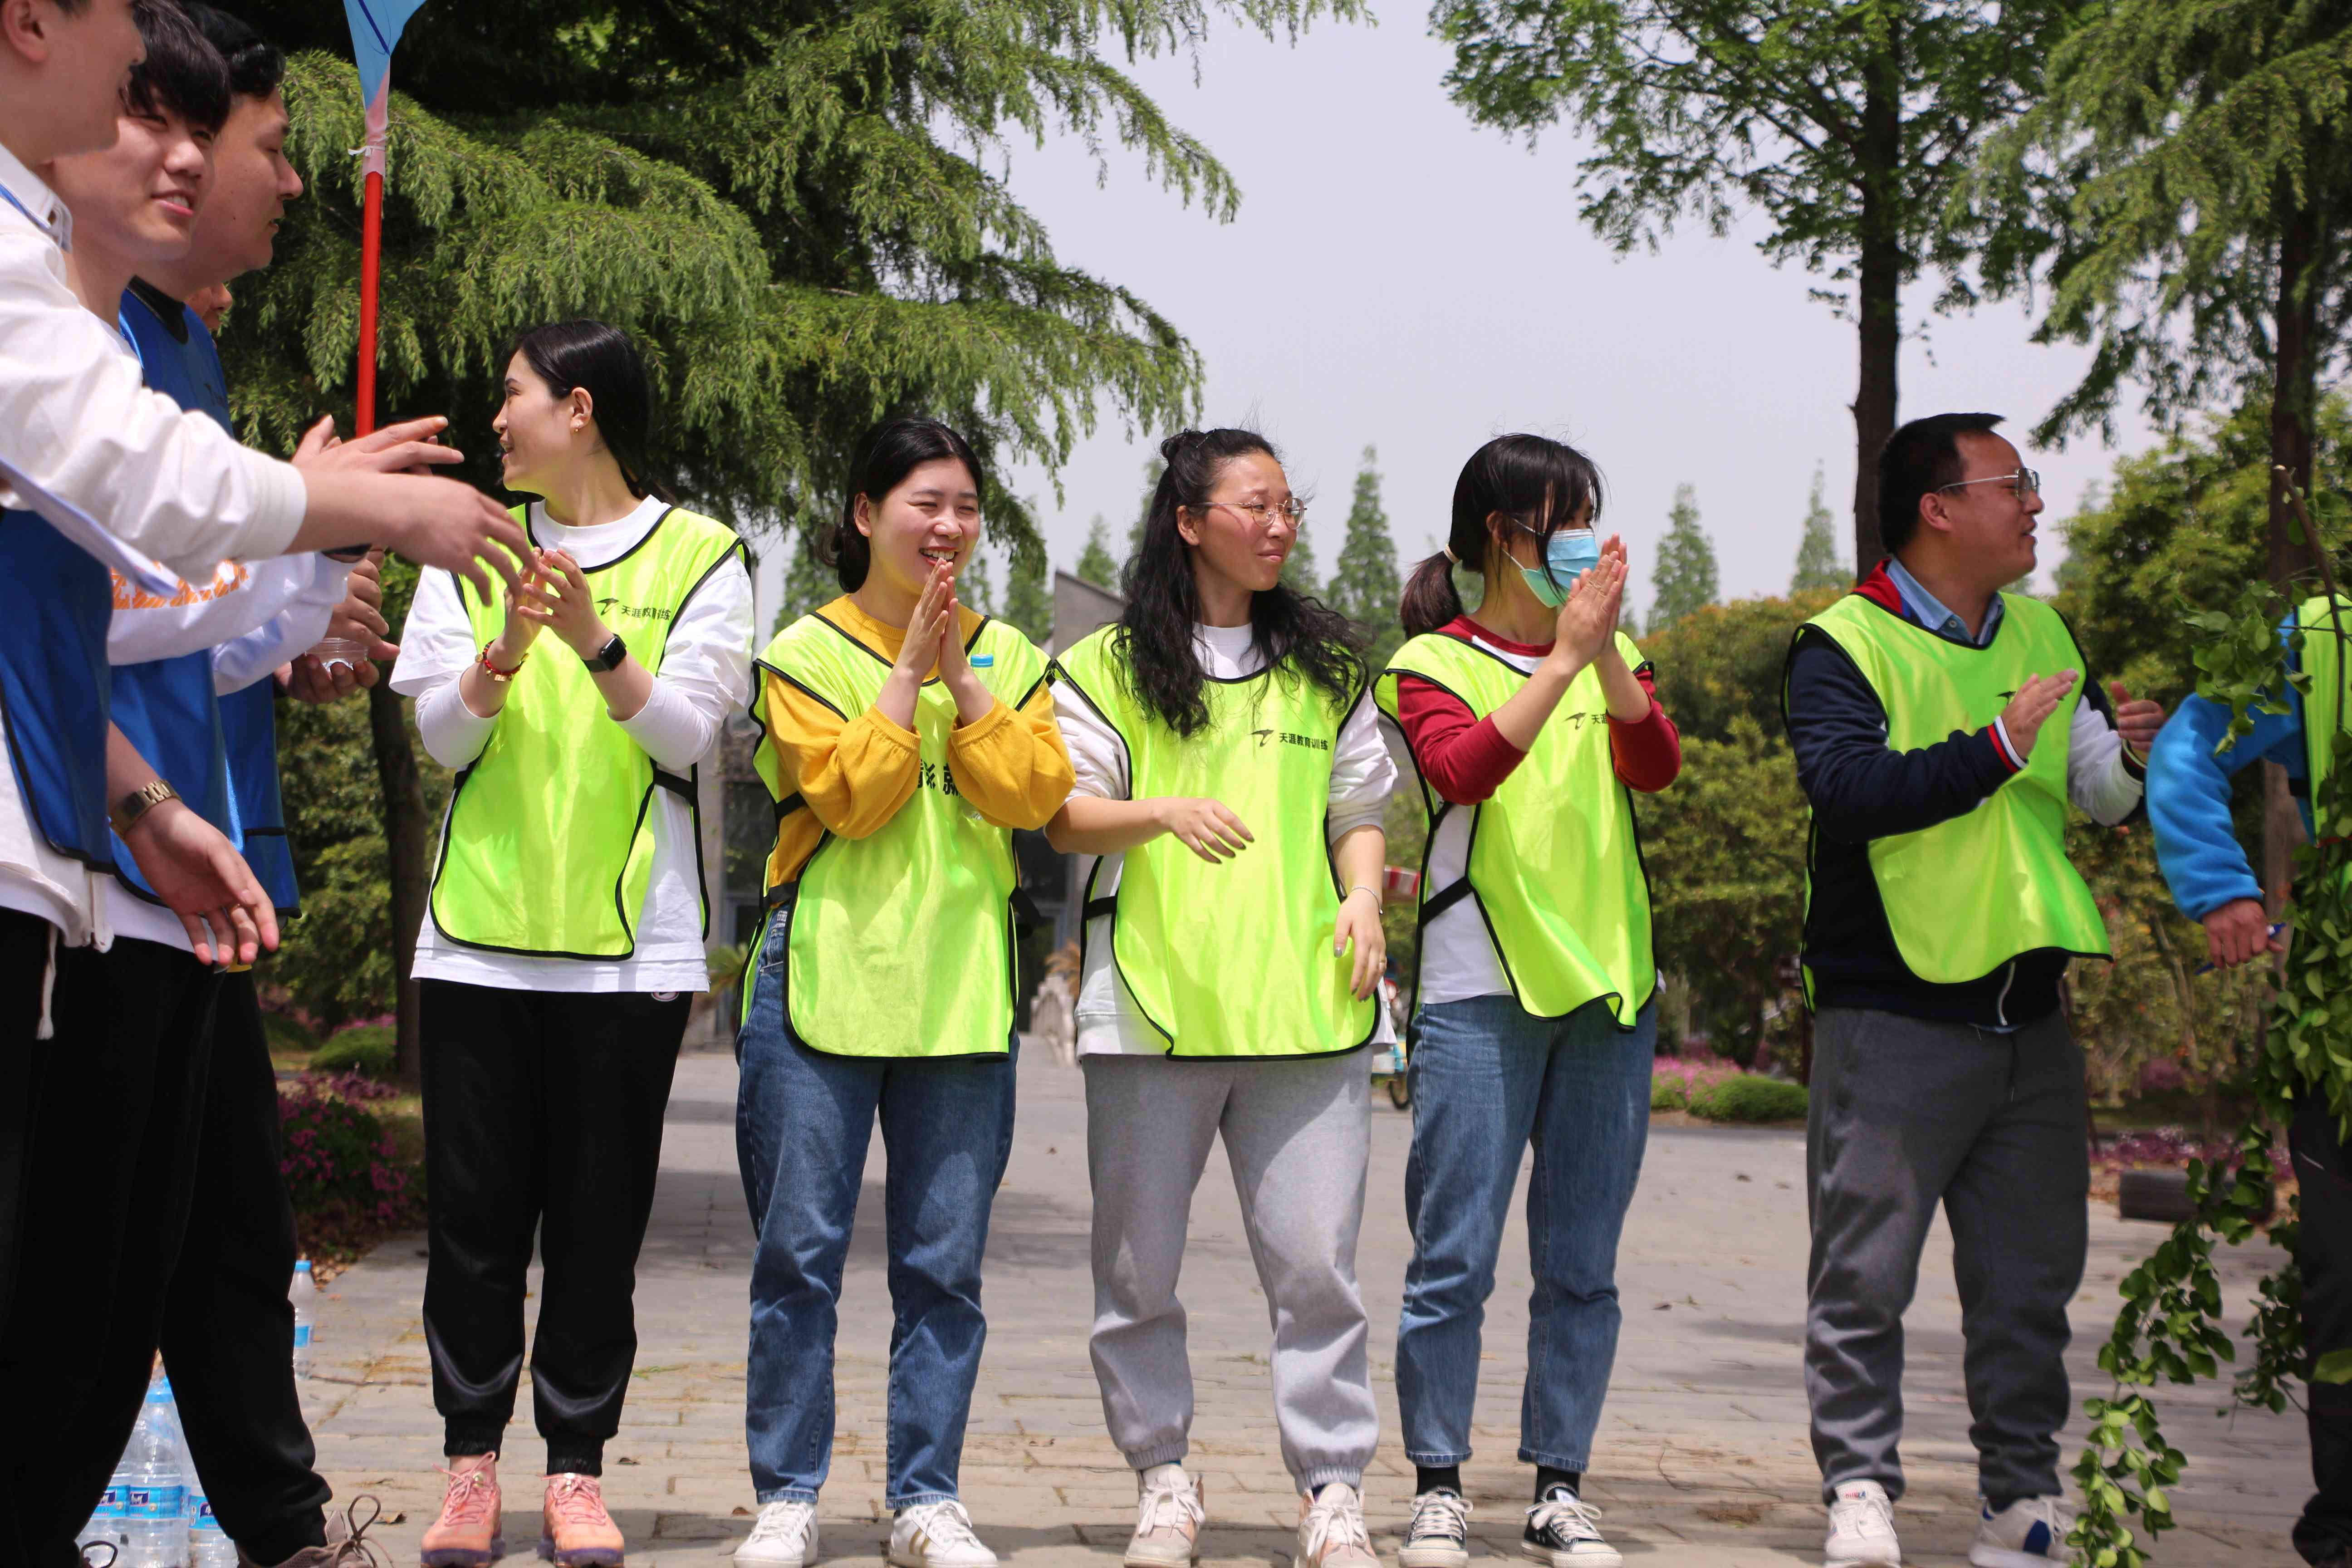
<path id="1" fill-rule="evenodd" d="M 1649 1143 L 1656 1001 L 1632 1032 L 1609 1009 L 1531 1018 L 1512 997 L 1421 1009 L 1406 1058 L 1414 1152 L 1404 1164 L 1397 1403 L 1414 1465 L 1470 1458 L 1479 1326 L 1494 1293 L 1519 1150 L 1536 1145 L 1526 1248 L 1536 1276 L 1519 1396 L 1519 1460 L 1585 1469 L 1616 1361 L 1616 1244 Z"/>

